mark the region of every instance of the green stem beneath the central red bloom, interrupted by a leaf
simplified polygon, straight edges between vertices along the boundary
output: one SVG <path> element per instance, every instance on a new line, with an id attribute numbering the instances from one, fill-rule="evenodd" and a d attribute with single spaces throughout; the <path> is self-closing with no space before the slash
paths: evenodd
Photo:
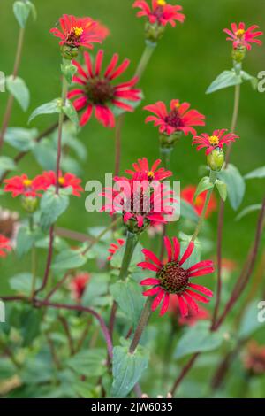
<path id="1" fill-rule="evenodd" d="M 125 243 L 125 253 L 124 253 L 121 268 L 120 268 L 120 271 L 119 271 L 118 280 L 125 280 L 125 278 L 127 277 L 128 268 L 129 268 L 131 260 L 133 258 L 133 251 L 134 251 L 137 243 L 138 243 L 138 235 L 135 235 L 135 234 L 131 233 L 130 231 L 127 231 L 126 243 Z M 113 304 L 112 304 L 111 312 L 110 312 L 110 322 L 109 322 L 109 328 L 110 328 L 110 335 L 111 336 L 112 336 L 113 330 L 114 330 L 116 312 L 117 312 L 117 302 L 114 301 Z"/>

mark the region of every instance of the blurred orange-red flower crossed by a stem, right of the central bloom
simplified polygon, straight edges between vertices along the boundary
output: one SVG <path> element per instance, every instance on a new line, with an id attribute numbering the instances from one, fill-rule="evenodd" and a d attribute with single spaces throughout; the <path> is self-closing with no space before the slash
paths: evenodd
<path id="1" fill-rule="evenodd" d="M 189 204 L 192 204 L 197 214 L 201 215 L 201 212 L 203 210 L 203 206 L 205 203 L 205 199 L 207 196 L 207 191 L 202 192 L 199 196 L 197 196 L 196 201 L 194 203 L 193 198 L 194 198 L 195 192 L 196 192 L 196 187 L 193 185 L 189 185 L 181 191 L 181 197 Z M 205 218 L 208 218 L 212 212 L 215 212 L 216 207 L 217 207 L 216 196 L 212 194 L 209 200 L 208 209 L 207 209 Z"/>

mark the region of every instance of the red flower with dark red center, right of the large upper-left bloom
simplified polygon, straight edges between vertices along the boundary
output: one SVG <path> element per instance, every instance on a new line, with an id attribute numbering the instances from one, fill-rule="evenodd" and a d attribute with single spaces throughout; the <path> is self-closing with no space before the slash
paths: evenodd
<path id="1" fill-rule="evenodd" d="M 154 121 L 154 126 L 159 126 L 160 133 L 166 135 L 178 131 L 183 131 L 185 135 L 189 133 L 196 135 L 196 130 L 192 126 L 205 126 L 205 116 L 197 110 L 189 110 L 190 106 L 189 103 L 180 104 L 179 100 L 172 100 L 168 112 L 162 101 L 147 105 L 145 110 L 153 112 L 155 116 L 148 116 L 146 123 Z"/>

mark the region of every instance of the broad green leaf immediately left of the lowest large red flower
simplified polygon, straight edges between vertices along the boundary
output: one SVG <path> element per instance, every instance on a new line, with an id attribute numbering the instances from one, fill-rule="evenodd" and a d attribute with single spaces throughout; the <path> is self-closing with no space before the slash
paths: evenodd
<path id="1" fill-rule="evenodd" d="M 117 281 L 110 286 L 110 293 L 128 320 L 131 320 L 133 325 L 136 326 L 145 304 L 145 297 L 142 296 L 140 284 L 132 279 Z"/>

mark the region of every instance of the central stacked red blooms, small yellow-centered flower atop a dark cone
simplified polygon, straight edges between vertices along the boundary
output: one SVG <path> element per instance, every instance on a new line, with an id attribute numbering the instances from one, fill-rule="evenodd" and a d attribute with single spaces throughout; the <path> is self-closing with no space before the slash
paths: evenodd
<path id="1" fill-rule="evenodd" d="M 172 191 L 160 182 L 172 175 L 163 168 L 157 170 L 160 163 L 161 160 L 156 160 L 149 169 L 148 160 L 139 159 L 133 165 L 135 170 L 127 171 L 132 176 L 130 179 L 115 177 L 114 186 L 102 193 L 108 200 L 102 211 L 108 211 L 110 215 L 121 213 L 125 224 L 130 222 L 131 227 L 141 230 L 152 223 L 166 222 L 165 215 L 172 215 L 174 211 L 170 204 L 177 201 L 172 197 Z"/>

